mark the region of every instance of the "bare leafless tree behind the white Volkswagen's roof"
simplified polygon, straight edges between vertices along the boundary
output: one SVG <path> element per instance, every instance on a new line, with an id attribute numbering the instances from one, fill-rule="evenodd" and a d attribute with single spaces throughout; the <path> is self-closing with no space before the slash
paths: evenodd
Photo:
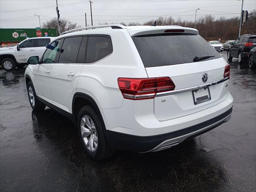
<path id="1" fill-rule="evenodd" d="M 68 19 L 60 19 L 60 27 L 58 26 L 57 18 L 50 19 L 42 24 L 43 28 L 56 28 L 58 31 L 58 35 L 62 34 L 65 31 L 79 28 L 81 26 L 77 25 L 77 23 L 73 23 Z"/>

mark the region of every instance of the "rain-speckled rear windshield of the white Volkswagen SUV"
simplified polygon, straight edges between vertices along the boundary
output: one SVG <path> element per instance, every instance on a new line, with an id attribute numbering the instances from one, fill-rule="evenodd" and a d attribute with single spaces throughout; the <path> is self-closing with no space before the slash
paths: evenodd
<path id="1" fill-rule="evenodd" d="M 144 67 L 191 63 L 196 56 L 214 56 L 205 60 L 221 58 L 210 44 L 196 34 L 150 34 L 134 36 L 132 40 Z"/>

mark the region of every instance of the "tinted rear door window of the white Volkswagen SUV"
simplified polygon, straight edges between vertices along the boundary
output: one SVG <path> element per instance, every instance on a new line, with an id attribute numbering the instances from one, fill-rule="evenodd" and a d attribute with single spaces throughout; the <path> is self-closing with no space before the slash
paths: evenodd
<path id="1" fill-rule="evenodd" d="M 60 52 L 59 63 L 76 63 L 82 39 L 83 37 L 65 38 Z"/>

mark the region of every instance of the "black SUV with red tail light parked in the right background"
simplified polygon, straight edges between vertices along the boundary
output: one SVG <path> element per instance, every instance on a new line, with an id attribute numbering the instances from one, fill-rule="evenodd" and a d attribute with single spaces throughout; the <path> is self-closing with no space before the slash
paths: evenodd
<path id="1" fill-rule="evenodd" d="M 238 63 L 242 64 L 248 60 L 249 52 L 256 44 L 256 34 L 241 35 L 234 43 L 230 43 L 228 47 L 228 60 L 238 58 Z"/>

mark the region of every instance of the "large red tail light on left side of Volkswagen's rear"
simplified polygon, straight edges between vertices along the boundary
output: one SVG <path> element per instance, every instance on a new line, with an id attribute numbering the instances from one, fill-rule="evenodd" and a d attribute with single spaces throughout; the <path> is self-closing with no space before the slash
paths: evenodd
<path id="1" fill-rule="evenodd" d="M 118 86 L 124 98 L 132 100 L 152 99 L 156 93 L 172 91 L 175 85 L 170 77 L 118 78 Z"/>

